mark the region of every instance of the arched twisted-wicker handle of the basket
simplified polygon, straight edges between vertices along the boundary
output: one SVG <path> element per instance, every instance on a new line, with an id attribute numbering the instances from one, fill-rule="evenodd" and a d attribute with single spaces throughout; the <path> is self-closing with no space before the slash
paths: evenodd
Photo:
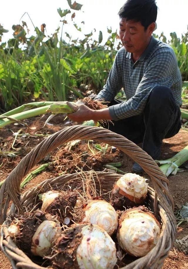
<path id="1" fill-rule="evenodd" d="M 4 206 L 4 212 L 2 208 L 3 199 L 6 197 L 7 201 L 11 199 L 14 202 L 18 207 L 19 212 L 23 212 L 23 207 L 19 201 L 19 196 L 21 195 L 20 183 L 22 178 L 49 152 L 64 143 L 76 139 L 98 140 L 117 147 L 122 152 L 125 152 L 151 177 L 155 187 L 155 212 L 157 210 L 157 197 L 159 197 L 160 201 L 164 204 L 164 209 L 167 212 L 173 212 L 174 202 L 167 187 L 169 181 L 152 157 L 132 141 L 108 129 L 74 125 L 66 127 L 44 139 L 31 150 L 31 152 L 29 152 L 9 174 L 0 189 L 0 223 L 3 223 L 3 220 L 6 217 L 7 203 Z"/>

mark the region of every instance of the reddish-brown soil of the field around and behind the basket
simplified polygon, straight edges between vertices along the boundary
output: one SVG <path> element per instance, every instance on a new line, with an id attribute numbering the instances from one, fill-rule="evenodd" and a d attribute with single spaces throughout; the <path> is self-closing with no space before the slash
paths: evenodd
<path id="1" fill-rule="evenodd" d="M 29 127 L 22 126 L 21 124 L 11 124 L 0 130 L 0 181 L 6 179 L 20 160 L 45 138 L 41 136 L 34 136 L 35 134 L 50 135 L 64 127 L 74 124 L 68 120 L 63 122 L 62 116 L 58 115 L 50 121 L 50 124 L 47 124 L 43 128 L 43 124 L 48 116 L 49 115 L 46 114 L 43 117 L 35 117 L 25 120 Z M 30 136 L 17 137 L 14 146 L 12 146 L 15 138 L 13 132 L 16 133 L 18 131 L 20 133 L 29 133 Z M 34 177 L 25 186 L 23 192 L 33 186 L 36 186 L 41 181 L 51 177 L 56 177 L 61 173 L 73 173 L 75 170 L 86 171 L 89 170 L 88 167 L 92 167 L 95 171 L 101 171 L 105 168 L 104 164 L 110 162 L 121 161 L 122 167 L 120 167 L 120 169 L 122 171 L 131 172 L 133 161 L 127 155 L 119 150 L 116 150 L 113 153 L 110 147 L 103 151 L 102 154 L 96 150 L 96 147 L 98 147 L 99 144 L 97 143 L 95 143 L 95 141 L 90 141 L 89 144 L 91 150 L 95 152 L 94 154 L 88 148 L 88 141 L 78 141 L 78 144 L 73 146 L 62 145 L 54 152 L 51 152 L 51 154 L 47 155 L 40 163 L 33 167 L 32 171 L 46 162 L 57 160 L 56 164 L 49 166 L 44 172 Z M 163 141 L 161 160 L 174 156 L 187 145 L 188 132 L 181 129 L 177 135 Z M 100 143 L 100 147 L 104 149 L 105 144 Z M 1 151 L 5 153 L 3 154 Z M 183 167 L 188 167 L 188 164 L 184 164 Z M 174 198 L 175 211 L 177 211 L 183 204 L 188 202 L 188 170 L 185 169 L 184 172 L 177 173 L 177 175 L 170 175 L 168 179 L 169 191 Z M 178 228 L 177 239 L 182 239 L 186 235 L 188 235 L 188 225 L 187 222 L 184 222 Z M 0 261 L 0 269 L 11 269 L 9 260 L 1 251 Z M 162 269 L 175 268 L 188 268 L 188 257 L 174 246 L 169 253 L 169 257 L 165 260 Z"/>

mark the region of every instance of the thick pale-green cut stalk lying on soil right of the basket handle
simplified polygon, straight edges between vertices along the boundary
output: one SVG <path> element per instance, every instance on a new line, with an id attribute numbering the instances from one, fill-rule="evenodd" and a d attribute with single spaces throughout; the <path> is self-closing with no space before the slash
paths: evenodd
<path id="1" fill-rule="evenodd" d="M 188 160 L 188 146 L 184 147 L 183 150 L 181 150 L 176 155 L 174 155 L 174 157 L 168 160 L 162 160 L 162 161 L 155 160 L 155 162 L 161 165 L 159 168 L 164 173 L 164 175 L 168 177 L 170 174 L 176 175 L 177 172 L 182 172 L 182 169 L 179 169 L 178 167 L 182 165 L 184 162 L 187 162 L 187 160 Z"/>

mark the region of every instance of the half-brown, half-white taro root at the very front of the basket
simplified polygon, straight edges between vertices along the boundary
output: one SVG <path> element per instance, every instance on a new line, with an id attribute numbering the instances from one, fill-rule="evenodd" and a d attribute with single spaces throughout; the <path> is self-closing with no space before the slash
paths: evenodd
<path id="1" fill-rule="evenodd" d="M 112 238 L 92 224 L 72 225 L 63 231 L 51 255 L 52 267 L 58 269 L 113 269 L 117 262 Z"/>

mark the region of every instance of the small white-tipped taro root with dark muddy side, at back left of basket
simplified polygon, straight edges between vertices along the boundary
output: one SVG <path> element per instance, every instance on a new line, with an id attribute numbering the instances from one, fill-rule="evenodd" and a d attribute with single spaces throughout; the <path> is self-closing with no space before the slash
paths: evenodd
<path id="1" fill-rule="evenodd" d="M 41 210 L 51 215 L 58 215 L 58 219 L 65 222 L 66 225 L 70 224 L 72 215 L 70 212 L 76 204 L 77 194 L 72 191 L 58 192 L 48 191 L 39 195 L 42 200 Z"/>

